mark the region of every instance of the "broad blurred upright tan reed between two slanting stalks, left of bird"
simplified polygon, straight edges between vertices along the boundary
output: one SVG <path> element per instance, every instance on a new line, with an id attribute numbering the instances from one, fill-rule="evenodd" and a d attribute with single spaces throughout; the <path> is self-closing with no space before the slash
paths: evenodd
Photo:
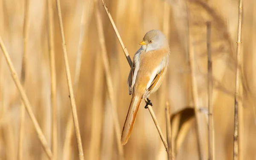
<path id="1" fill-rule="evenodd" d="M 95 75 L 94 75 L 94 93 L 93 93 L 93 108 L 92 108 L 92 129 L 90 140 L 90 155 L 89 160 L 99 160 L 100 157 L 100 142 L 102 133 L 102 88 L 103 86 L 103 67 L 100 52 L 96 55 L 95 60 Z"/>

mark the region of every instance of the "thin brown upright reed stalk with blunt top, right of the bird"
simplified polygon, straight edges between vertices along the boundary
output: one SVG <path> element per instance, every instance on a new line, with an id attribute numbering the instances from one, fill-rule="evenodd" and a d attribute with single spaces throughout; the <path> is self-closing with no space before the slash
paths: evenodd
<path id="1" fill-rule="evenodd" d="M 213 160 L 213 119 L 212 119 L 212 53 L 211 22 L 207 22 L 207 60 L 208 60 L 208 160 Z"/>

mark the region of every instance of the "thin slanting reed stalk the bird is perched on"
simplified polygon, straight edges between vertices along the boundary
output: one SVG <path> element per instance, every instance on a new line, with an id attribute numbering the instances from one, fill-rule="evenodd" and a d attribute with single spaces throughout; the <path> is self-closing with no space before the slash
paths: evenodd
<path id="1" fill-rule="evenodd" d="M 120 37 L 120 35 L 119 35 L 119 32 L 118 32 L 118 30 L 117 30 L 117 28 L 116 28 L 116 25 L 115 25 L 113 19 L 112 19 L 112 17 L 111 17 L 111 14 L 110 14 L 110 12 L 109 12 L 109 10 L 108 10 L 107 5 L 105 4 L 105 2 L 104 2 L 103 0 L 102 0 L 102 3 L 103 3 L 103 6 L 104 6 L 104 8 L 105 8 L 105 11 L 106 11 L 106 13 L 107 13 L 107 15 L 108 15 L 108 18 L 109 18 L 109 20 L 110 20 L 110 22 L 111 22 L 111 24 L 112 24 L 112 26 L 113 26 L 113 29 L 114 29 L 114 31 L 115 31 L 115 33 L 116 33 L 116 37 L 118 38 L 119 43 L 121 44 L 122 49 L 123 49 L 123 51 L 124 51 L 124 53 L 125 53 L 125 57 L 126 57 L 128 63 L 129 63 L 129 65 L 130 65 L 130 67 L 131 67 L 132 61 L 131 61 L 130 55 L 129 55 L 128 51 L 127 51 L 127 48 L 125 47 L 125 45 L 124 45 L 123 42 L 122 42 L 122 39 L 121 39 L 121 37 Z M 151 105 L 148 105 L 148 110 L 149 110 L 149 112 L 150 112 L 150 114 L 151 114 L 151 116 L 152 116 L 152 119 L 153 119 L 153 121 L 154 121 L 154 123 L 155 123 L 155 125 L 156 125 L 157 131 L 158 131 L 158 133 L 159 133 L 159 135 L 160 135 L 160 137 L 161 137 L 161 140 L 162 140 L 162 142 L 163 142 L 163 145 L 165 146 L 166 151 L 168 151 L 167 142 L 166 142 L 165 138 L 163 137 L 163 132 L 162 132 L 162 130 L 161 130 L 161 128 L 160 128 L 159 123 L 157 122 L 157 117 L 155 116 L 154 111 L 153 111 L 153 108 L 152 108 Z"/>

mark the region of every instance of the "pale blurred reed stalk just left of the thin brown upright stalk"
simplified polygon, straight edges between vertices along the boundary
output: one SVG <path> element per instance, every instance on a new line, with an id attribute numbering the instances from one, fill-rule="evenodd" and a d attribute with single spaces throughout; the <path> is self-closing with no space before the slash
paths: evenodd
<path id="1" fill-rule="evenodd" d="M 189 22 L 188 22 L 189 24 Z M 189 27 L 188 27 L 189 28 Z M 190 29 L 189 29 L 190 30 Z M 194 109 L 195 109 L 195 126 L 196 126 L 196 135 L 197 135 L 197 142 L 198 142 L 198 152 L 199 152 L 199 160 L 203 160 L 203 142 L 202 142 L 202 134 L 201 134 L 201 126 L 200 126 L 200 115 L 199 115 L 199 105 L 198 105 L 198 90 L 197 90 L 197 81 L 196 81 L 196 73 L 195 73 L 195 55 L 194 49 L 192 46 L 192 39 L 189 32 L 189 65 L 191 68 L 191 84 L 192 84 L 192 96 L 194 101 Z"/>

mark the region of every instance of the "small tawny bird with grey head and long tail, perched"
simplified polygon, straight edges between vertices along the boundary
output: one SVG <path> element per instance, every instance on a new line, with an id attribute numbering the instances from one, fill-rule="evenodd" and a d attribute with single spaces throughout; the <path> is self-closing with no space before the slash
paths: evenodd
<path id="1" fill-rule="evenodd" d="M 148 97 L 162 84 L 169 62 L 168 40 L 161 31 L 148 31 L 140 45 L 128 76 L 129 95 L 132 98 L 122 130 L 122 145 L 128 142 L 142 99 L 147 99 L 145 108 L 152 106 Z"/>

